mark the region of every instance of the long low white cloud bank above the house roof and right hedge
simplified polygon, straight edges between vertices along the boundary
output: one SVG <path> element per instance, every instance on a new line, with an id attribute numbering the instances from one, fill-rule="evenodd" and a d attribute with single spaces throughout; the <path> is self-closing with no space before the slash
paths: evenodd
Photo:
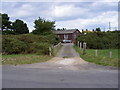
<path id="1" fill-rule="evenodd" d="M 115 11 L 108 11 L 106 13 L 102 13 L 101 15 L 89 19 L 75 19 L 75 20 L 69 20 L 69 21 L 60 21 L 56 22 L 56 25 L 58 28 L 78 28 L 78 29 L 93 29 L 97 26 L 104 25 L 105 28 L 108 29 L 108 23 L 111 22 L 111 27 L 114 29 L 115 27 L 118 27 L 118 18 L 117 18 L 117 12 Z M 92 26 L 92 28 L 90 27 Z M 103 28 L 103 27 L 102 27 Z"/>

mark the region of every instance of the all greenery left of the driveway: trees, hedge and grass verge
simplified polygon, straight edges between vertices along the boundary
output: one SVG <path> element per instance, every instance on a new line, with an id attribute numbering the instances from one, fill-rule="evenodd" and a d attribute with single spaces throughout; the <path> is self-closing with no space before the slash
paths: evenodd
<path id="1" fill-rule="evenodd" d="M 35 29 L 29 32 L 24 21 L 16 19 L 12 22 L 7 14 L 0 15 L 3 64 L 35 63 L 51 58 L 49 47 L 59 43 L 59 38 L 52 33 L 54 21 L 39 17 L 33 21 Z"/>

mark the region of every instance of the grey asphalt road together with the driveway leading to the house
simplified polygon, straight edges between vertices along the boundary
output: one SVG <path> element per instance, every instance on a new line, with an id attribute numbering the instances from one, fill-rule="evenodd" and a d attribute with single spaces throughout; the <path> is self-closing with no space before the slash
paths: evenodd
<path id="1" fill-rule="evenodd" d="M 63 44 L 48 62 L 6 65 L 2 70 L 3 88 L 118 88 L 117 69 L 82 60 L 72 44 Z"/>

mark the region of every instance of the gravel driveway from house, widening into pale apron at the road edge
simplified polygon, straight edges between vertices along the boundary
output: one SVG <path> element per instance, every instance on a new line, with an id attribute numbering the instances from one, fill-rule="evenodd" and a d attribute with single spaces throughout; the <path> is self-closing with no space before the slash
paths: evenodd
<path id="1" fill-rule="evenodd" d="M 73 48 L 72 43 L 63 43 L 62 45 L 63 47 L 53 59 L 43 63 L 18 65 L 18 67 L 61 68 L 69 70 L 117 70 L 114 67 L 96 65 L 83 60 Z"/>

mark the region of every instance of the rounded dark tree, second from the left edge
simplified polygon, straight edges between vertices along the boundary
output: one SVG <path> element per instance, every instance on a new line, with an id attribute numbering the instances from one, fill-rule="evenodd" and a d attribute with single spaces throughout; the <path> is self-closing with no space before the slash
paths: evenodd
<path id="1" fill-rule="evenodd" d="M 17 19 L 14 23 L 13 23 L 13 29 L 15 34 L 26 34 L 29 33 L 27 24 L 24 23 L 22 20 Z"/>

